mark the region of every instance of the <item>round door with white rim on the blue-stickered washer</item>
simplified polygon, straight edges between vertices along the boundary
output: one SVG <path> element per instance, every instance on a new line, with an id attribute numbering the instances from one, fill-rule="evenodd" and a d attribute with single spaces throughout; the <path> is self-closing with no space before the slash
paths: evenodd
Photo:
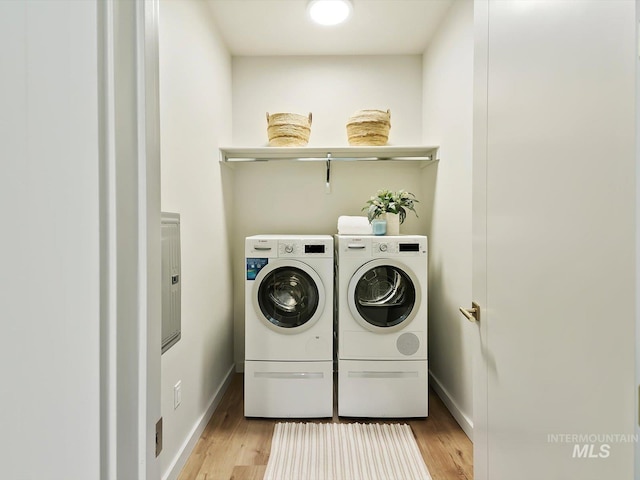
<path id="1" fill-rule="evenodd" d="M 322 280 L 303 262 L 275 261 L 256 277 L 253 306 L 264 324 L 279 333 L 300 333 L 312 327 L 324 304 Z"/>

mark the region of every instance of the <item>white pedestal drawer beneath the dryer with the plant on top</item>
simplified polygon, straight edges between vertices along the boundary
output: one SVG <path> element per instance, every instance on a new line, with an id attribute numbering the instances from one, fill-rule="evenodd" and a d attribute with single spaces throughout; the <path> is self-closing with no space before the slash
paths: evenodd
<path id="1" fill-rule="evenodd" d="M 410 418 L 427 412 L 426 360 L 338 360 L 338 415 Z"/>

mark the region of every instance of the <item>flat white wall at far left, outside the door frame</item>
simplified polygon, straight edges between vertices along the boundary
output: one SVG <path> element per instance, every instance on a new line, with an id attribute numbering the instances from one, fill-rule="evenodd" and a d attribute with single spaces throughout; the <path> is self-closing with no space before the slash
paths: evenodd
<path id="1" fill-rule="evenodd" d="M 97 2 L 0 2 L 0 476 L 100 478 Z"/>

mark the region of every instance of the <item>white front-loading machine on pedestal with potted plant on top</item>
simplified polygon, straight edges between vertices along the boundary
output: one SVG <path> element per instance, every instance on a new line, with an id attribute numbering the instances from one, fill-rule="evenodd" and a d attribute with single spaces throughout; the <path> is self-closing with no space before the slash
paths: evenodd
<path id="1" fill-rule="evenodd" d="M 427 237 L 335 236 L 338 415 L 426 417 Z"/>

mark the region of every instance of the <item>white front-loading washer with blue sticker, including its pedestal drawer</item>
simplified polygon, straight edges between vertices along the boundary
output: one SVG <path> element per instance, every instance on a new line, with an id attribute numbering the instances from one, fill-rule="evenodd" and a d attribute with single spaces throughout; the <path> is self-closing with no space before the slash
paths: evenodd
<path id="1" fill-rule="evenodd" d="M 333 416 L 330 235 L 245 240 L 247 417 Z"/>

